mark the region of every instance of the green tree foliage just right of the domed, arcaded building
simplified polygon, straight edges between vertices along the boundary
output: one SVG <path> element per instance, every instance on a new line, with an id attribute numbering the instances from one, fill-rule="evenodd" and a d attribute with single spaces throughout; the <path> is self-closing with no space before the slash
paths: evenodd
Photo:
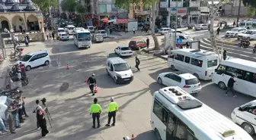
<path id="1" fill-rule="evenodd" d="M 49 11 L 50 7 L 56 8 L 58 6 L 58 0 L 32 0 L 41 11 Z"/>

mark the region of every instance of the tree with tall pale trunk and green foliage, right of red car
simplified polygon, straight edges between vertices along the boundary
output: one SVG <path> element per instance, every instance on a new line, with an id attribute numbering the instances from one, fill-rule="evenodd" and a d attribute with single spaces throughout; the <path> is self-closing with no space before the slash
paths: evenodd
<path id="1" fill-rule="evenodd" d="M 150 20 L 150 29 L 151 29 L 151 35 L 155 43 L 155 50 L 160 50 L 159 42 L 157 37 L 155 36 L 155 19 L 158 17 L 158 4 L 159 0 L 116 0 L 115 5 L 117 8 L 123 8 L 127 9 L 127 5 L 143 5 L 144 7 L 151 8 L 151 15 L 150 17 L 152 20 Z"/>

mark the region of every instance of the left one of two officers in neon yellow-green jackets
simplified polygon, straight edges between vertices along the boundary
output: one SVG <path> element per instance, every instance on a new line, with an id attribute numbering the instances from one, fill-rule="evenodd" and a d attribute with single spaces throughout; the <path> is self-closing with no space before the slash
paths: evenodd
<path id="1" fill-rule="evenodd" d="M 90 107 L 90 115 L 92 115 L 92 128 L 95 128 L 95 120 L 97 119 L 98 128 L 101 127 L 100 117 L 101 117 L 102 108 L 101 105 L 98 104 L 98 99 L 94 98 L 94 104 L 91 104 Z"/>

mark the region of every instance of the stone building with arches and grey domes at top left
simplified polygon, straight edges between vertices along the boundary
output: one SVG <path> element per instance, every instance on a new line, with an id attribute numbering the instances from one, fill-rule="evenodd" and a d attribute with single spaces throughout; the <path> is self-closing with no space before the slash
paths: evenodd
<path id="1" fill-rule="evenodd" d="M 0 0 L 1 31 L 39 31 L 42 27 L 43 14 L 30 0 Z"/>

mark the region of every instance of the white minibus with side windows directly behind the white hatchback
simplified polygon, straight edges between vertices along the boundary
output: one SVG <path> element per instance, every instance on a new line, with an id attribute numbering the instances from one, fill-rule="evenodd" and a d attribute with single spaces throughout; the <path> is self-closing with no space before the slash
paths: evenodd
<path id="1" fill-rule="evenodd" d="M 191 73 L 197 79 L 212 79 L 214 70 L 219 65 L 218 54 L 212 51 L 186 48 L 173 50 L 171 53 L 168 56 L 168 67 L 172 70 Z"/>

